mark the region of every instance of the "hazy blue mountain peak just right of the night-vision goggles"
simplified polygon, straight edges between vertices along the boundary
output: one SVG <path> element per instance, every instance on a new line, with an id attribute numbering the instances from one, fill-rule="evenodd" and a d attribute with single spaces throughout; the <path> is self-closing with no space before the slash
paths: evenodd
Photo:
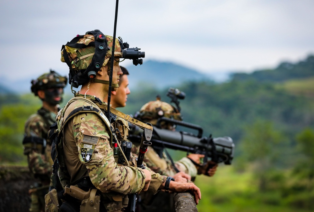
<path id="1" fill-rule="evenodd" d="M 139 85 L 165 88 L 177 86 L 186 81 L 213 81 L 209 75 L 170 62 L 148 60 L 142 65 L 130 65 L 126 68 L 130 73 L 128 76 L 130 88 Z"/>

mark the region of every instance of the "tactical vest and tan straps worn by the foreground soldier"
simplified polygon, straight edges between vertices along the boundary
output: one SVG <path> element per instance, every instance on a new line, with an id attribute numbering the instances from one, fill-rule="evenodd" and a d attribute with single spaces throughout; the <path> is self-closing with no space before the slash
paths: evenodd
<path id="1" fill-rule="evenodd" d="M 91 106 L 88 105 L 88 106 L 76 108 L 67 117 L 64 117 L 64 114 L 65 114 L 66 110 L 68 109 L 69 105 L 76 100 L 83 100 L 87 103 L 90 103 Z M 103 110 L 101 110 L 101 109 L 103 109 Z M 126 138 L 128 135 L 128 126 L 125 123 L 125 121 L 129 121 L 129 122 L 133 123 L 134 125 L 139 126 L 141 128 L 143 128 L 143 127 L 151 128 L 151 130 L 152 130 L 151 126 L 146 125 L 146 124 L 144 124 L 138 120 L 135 120 L 132 117 L 130 117 L 129 115 L 123 114 L 122 112 L 120 112 L 116 109 L 113 109 L 113 108 L 111 108 L 111 112 L 113 114 L 115 114 L 116 116 L 122 118 L 122 119 L 118 119 L 117 121 L 114 121 L 111 125 L 109 123 L 109 120 L 107 119 L 107 117 L 105 116 L 105 114 L 103 112 L 103 111 L 106 111 L 106 109 L 107 109 L 107 105 L 101 104 L 101 102 L 100 102 L 100 104 L 96 104 L 93 101 L 86 99 L 86 98 L 74 97 L 67 103 L 67 105 L 63 109 L 61 109 L 58 112 L 57 122 L 51 126 L 51 130 L 48 132 L 48 137 L 49 137 L 50 141 L 52 142 L 51 157 L 54 160 L 53 174 L 55 175 L 56 181 L 57 181 L 57 188 L 56 189 L 57 189 L 57 193 L 58 193 L 59 205 L 62 204 L 61 199 L 66 200 L 68 202 L 77 202 L 77 204 L 80 205 L 80 202 L 77 199 L 76 200 L 73 199 L 73 196 L 75 195 L 74 193 L 78 193 L 78 191 L 74 192 L 74 190 L 77 190 L 78 188 L 82 189 L 82 191 L 80 191 L 80 192 L 89 191 L 89 194 L 92 193 L 91 191 L 93 191 L 93 190 L 95 191 L 95 186 L 91 183 L 89 176 L 87 175 L 87 169 L 86 168 L 81 169 L 80 173 L 78 174 L 78 176 L 83 176 L 84 174 L 86 174 L 85 177 L 82 177 L 82 178 L 77 179 L 77 180 L 70 183 L 70 177 L 69 177 L 69 174 L 67 171 L 67 167 L 65 165 L 64 158 L 63 158 L 63 128 L 64 128 L 64 126 L 66 126 L 68 120 L 71 120 L 71 118 L 73 118 L 74 116 L 76 116 L 77 114 L 80 114 L 80 113 L 95 113 L 103 120 L 103 122 L 106 124 L 106 126 L 109 129 L 112 129 L 112 128 L 118 129 L 120 139 L 121 140 L 125 139 L 125 141 L 126 141 Z M 115 140 L 117 140 L 116 135 L 115 135 L 115 133 L 112 133 L 110 131 L 109 136 L 110 136 L 111 147 L 113 147 Z M 113 137 L 115 139 L 113 139 Z M 114 149 L 114 147 L 113 147 L 113 149 Z M 119 147 L 119 149 L 120 149 L 119 153 L 124 155 L 122 148 Z M 120 154 L 118 154 L 118 155 L 120 155 Z M 124 156 L 124 159 L 122 159 L 122 160 L 120 159 L 120 157 L 117 157 L 117 158 L 115 157 L 115 159 L 116 159 L 116 162 L 124 161 L 126 163 L 124 165 L 130 165 L 128 160 L 126 160 L 126 156 Z M 136 162 L 133 161 L 133 165 L 136 165 L 135 163 Z M 75 187 L 73 187 L 73 186 L 75 186 Z M 71 192 L 73 195 L 71 194 Z M 64 196 L 63 195 L 64 193 L 69 194 L 70 197 L 68 197 L 68 195 Z M 93 197 L 95 198 L 95 195 L 96 195 L 95 192 L 93 194 L 94 194 Z M 103 193 L 102 193 L 102 196 L 104 196 Z M 75 197 L 75 198 L 81 198 L 81 197 Z M 84 198 L 86 198 L 86 195 L 84 196 Z M 119 198 L 118 197 L 115 198 L 115 197 L 111 196 L 110 198 L 113 200 L 116 200 L 116 201 L 122 201 L 121 196 Z M 81 199 L 81 200 L 83 200 L 83 199 Z M 128 201 L 127 199 L 123 199 L 123 204 L 124 204 L 123 207 L 127 206 L 127 201 Z M 105 210 L 105 209 L 103 209 L 103 210 Z"/>

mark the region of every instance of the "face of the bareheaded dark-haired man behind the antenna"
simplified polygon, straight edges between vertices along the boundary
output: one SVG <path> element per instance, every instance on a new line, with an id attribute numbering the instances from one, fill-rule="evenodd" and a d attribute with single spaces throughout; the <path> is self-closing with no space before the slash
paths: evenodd
<path id="1" fill-rule="evenodd" d="M 125 107 L 127 104 L 127 95 L 131 93 L 128 87 L 129 80 L 127 79 L 127 75 L 120 76 L 120 81 L 118 89 L 112 92 L 111 103 L 114 108 Z"/>

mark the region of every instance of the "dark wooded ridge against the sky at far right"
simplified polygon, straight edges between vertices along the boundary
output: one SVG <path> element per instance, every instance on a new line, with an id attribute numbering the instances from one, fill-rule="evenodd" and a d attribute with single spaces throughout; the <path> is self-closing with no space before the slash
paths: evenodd
<path id="1" fill-rule="evenodd" d="M 314 55 L 295 64 L 282 62 L 274 69 L 256 70 L 252 73 L 233 73 L 233 80 L 257 80 L 268 82 L 282 82 L 291 79 L 305 79 L 314 76 Z"/>

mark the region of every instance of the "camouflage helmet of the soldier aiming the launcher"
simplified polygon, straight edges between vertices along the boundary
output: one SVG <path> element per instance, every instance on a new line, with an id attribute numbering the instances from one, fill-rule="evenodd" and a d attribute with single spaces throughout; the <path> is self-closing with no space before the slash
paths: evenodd
<path id="1" fill-rule="evenodd" d="M 175 120 L 183 120 L 180 112 L 171 104 L 163 102 L 157 97 L 156 101 L 150 101 L 143 105 L 135 118 L 142 122 L 149 122 L 156 125 L 161 117 L 171 118 Z M 161 124 L 162 125 L 162 124 Z"/>

